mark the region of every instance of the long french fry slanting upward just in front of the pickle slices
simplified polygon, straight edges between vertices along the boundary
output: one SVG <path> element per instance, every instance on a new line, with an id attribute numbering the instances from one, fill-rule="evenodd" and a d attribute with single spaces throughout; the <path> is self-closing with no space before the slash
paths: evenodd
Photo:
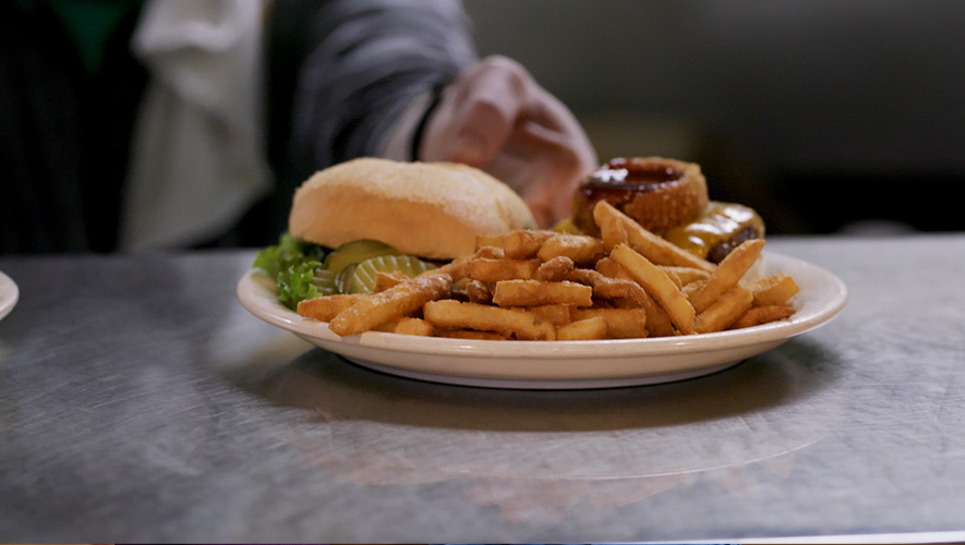
<path id="1" fill-rule="evenodd" d="M 429 302 L 449 292 L 453 278 L 448 275 L 417 277 L 383 292 L 360 299 L 338 313 L 328 323 L 328 329 L 340 337 L 367 331 L 393 318 L 407 316 Z"/>

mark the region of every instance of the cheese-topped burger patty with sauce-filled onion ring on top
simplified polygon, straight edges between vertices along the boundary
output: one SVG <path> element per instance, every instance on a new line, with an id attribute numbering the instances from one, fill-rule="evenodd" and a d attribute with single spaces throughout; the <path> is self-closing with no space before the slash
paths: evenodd
<path id="1" fill-rule="evenodd" d="M 752 208 L 710 201 L 707 179 L 693 162 L 634 157 L 604 164 L 577 187 L 572 226 L 600 235 L 593 214 L 601 202 L 711 263 L 720 263 L 744 241 L 764 237 L 764 222 Z"/>

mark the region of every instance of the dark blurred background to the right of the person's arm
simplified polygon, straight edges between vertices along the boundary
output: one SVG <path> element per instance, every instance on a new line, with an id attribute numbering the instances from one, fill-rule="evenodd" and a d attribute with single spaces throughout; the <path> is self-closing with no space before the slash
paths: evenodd
<path id="1" fill-rule="evenodd" d="M 466 0 L 600 160 L 701 164 L 770 232 L 965 230 L 965 2 Z"/>

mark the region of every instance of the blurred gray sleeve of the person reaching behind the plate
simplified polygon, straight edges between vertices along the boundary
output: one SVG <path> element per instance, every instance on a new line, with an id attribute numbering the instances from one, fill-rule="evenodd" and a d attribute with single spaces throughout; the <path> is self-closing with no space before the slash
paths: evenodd
<path id="1" fill-rule="evenodd" d="M 312 17 L 290 152 L 313 168 L 376 155 L 413 99 L 478 59 L 458 0 L 334 0 Z"/>

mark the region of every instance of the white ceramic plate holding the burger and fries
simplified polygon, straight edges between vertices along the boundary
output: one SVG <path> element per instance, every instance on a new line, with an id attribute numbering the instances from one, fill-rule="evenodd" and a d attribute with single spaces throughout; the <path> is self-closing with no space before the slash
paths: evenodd
<path id="1" fill-rule="evenodd" d="M 276 301 L 268 275 L 238 283 L 242 305 L 265 322 L 367 367 L 396 375 L 497 388 L 602 388 L 679 380 L 713 373 L 771 350 L 836 316 L 847 302 L 837 277 L 807 262 L 765 253 L 757 274 L 786 272 L 800 291 L 797 313 L 762 326 L 708 335 L 599 341 L 483 341 L 369 331 L 338 337 Z"/>

